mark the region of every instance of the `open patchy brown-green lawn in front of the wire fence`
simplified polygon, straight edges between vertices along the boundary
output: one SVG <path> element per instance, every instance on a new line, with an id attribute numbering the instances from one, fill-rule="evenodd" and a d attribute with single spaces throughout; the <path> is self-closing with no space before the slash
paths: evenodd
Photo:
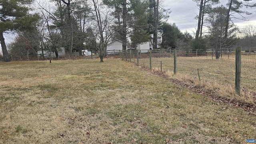
<path id="1" fill-rule="evenodd" d="M 120 60 L 0 63 L 1 144 L 238 144 L 256 117 Z"/>

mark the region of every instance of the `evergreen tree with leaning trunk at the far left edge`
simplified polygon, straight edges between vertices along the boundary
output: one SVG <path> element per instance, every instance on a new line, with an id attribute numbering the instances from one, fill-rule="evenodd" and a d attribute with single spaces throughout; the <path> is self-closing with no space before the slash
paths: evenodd
<path id="1" fill-rule="evenodd" d="M 4 32 L 12 30 L 29 29 L 38 19 L 37 15 L 29 14 L 27 5 L 32 0 L 1 0 L 0 1 L 0 42 L 4 56 L 4 62 L 10 62 L 11 58 L 7 51 Z"/>

